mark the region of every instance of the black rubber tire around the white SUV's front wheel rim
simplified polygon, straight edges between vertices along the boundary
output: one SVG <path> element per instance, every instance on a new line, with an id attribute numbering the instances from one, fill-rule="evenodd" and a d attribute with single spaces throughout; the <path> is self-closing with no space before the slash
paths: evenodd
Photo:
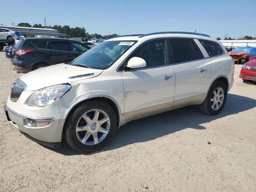
<path id="1" fill-rule="evenodd" d="M 94 145 L 86 145 L 80 142 L 80 140 L 78 139 L 76 135 L 76 125 L 78 124 L 80 117 L 85 112 L 93 109 L 99 109 L 106 112 L 110 120 L 110 128 L 109 128 L 108 134 L 101 142 Z M 117 128 L 117 117 L 113 108 L 105 102 L 92 100 L 92 101 L 88 101 L 81 104 L 80 106 L 76 107 L 73 110 L 72 114 L 67 119 L 67 123 L 65 124 L 63 138 L 74 150 L 77 150 L 83 153 L 89 153 L 89 152 L 94 152 L 96 150 L 103 148 L 110 141 L 112 141 L 116 133 L 116 128 Z"/>

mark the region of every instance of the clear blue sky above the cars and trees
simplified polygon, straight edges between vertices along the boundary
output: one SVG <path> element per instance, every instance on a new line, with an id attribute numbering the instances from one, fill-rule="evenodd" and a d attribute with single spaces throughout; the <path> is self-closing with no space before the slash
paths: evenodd
<path id="1" fill-rule="evenodd" d="M 2 7 L 9 7 L 7 0 Z M 213 38 L 256 37 L 256 0 L 13 0 L 12 11 L 1 14 L 0 24 L 27 22 L 84 27 L 86 32 L 145 34 L 186 31 Z"/>

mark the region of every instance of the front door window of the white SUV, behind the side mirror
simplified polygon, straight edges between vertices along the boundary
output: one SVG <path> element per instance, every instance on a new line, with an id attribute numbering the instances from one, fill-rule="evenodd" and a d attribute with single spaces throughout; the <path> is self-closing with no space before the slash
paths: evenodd
<path id="1" fill-rule="evenodd" d="M 142 45 L 132 57 L 140 57 L 146 61 L 146 68 L 168 64 L 168 52 L 165 40 L 157 40 Z"/>

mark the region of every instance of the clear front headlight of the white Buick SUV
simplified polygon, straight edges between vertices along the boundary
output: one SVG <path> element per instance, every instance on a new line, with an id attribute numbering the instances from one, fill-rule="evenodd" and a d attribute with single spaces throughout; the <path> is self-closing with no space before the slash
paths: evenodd
<path id="1" fill-rule="evenodd" d="M 44 107 L 58 100 L 68 90 L 71 85 L 54 85 L 35 91 L 28 99 L 29 106 Z"/>

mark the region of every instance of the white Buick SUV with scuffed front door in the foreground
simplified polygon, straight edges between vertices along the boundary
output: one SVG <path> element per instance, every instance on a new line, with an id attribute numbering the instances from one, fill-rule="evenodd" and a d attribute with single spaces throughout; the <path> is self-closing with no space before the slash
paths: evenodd
<path id="1" fill-rule="evenodd" d="M 20 76 L 5 110 L 20 132 L 40 144 L 59 147 L 63 139 L 75 150 L 92 152 L 131 120 L 188 105 L 218 114 L 233 75 L 233 59 L 208 35 L 119 36 L 70 65 Z"/>

